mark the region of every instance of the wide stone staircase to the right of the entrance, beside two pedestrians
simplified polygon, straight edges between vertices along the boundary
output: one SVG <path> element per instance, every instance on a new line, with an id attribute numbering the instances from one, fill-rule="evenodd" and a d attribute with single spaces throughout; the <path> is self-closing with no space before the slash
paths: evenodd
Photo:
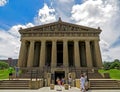
<path id="1" fill-rule="evenodd" d="M 120 83 L 110 79 L 90 79 L 90 89 L 120 89 Z"/>

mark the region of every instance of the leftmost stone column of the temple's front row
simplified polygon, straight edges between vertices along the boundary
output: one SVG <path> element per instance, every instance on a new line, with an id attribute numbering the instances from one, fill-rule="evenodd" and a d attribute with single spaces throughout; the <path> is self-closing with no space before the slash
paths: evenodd
<path id="1" fill-rule="evenodd" d="M 21 47 L 20 47 L 20 53 L 19 53 L 19 59 L 18 59 L 18 66 L 19 67 L 23 67 L 25 65 L 23 65 L 23 63 L 25 64 L 25 55 L 26 54 L 26 41 L 22 40 L 21 41 Z"/>

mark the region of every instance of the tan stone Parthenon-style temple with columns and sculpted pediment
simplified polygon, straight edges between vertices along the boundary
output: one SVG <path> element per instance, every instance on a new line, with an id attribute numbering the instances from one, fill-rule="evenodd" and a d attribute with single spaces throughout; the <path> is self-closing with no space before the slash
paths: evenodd
<path id="1" fill-rule="evenodd" d="M 80 73 L 95 73 L 102 67 L 98 27 L 57 22 L 19 30 L 21 48 L 18 66 L 39 69 L 54 77 L 80 77 Z"/>

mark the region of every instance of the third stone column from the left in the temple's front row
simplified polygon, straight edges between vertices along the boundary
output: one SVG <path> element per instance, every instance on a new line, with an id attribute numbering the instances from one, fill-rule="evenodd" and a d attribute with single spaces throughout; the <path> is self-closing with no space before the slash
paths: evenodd
<path id="1" fill-rule="evenodd" d="M 39 62 L 39 67 L 41 68 L 45 66 L 45 49 L 46 49 L 45 40 L 42 40 L 41 50 L 40 50 L 40 62 Z"/>

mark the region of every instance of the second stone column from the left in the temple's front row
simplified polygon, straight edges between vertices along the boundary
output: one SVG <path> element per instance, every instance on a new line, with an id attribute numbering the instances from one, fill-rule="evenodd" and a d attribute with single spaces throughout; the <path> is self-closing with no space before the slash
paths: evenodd
<path id="1" fill-rule="evenodd" d="M 34 41 L 30 41 L 30 48 L 28 53 L 27 67 L 33 67 L 34 60 Z"/>

